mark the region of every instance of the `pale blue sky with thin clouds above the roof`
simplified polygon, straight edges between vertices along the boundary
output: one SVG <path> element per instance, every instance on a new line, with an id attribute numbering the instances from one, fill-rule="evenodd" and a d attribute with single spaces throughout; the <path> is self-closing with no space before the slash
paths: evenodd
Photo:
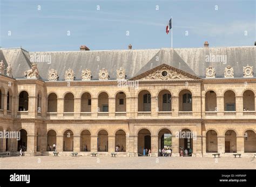
<path id="1" fill-rule="evenodd" d="M 129 44 L 133 49 L 171 47 L 171 34 L 165 33 L 171 16 L 174 48 L 202 47 L 204 41 L 211 47 L 252 46 L 256 41 L 255 0 L 0 0 L 0 3 L 0 46 L 5 48 L 78 51 L 80 45 L 91 50 L 127 49 Z"/>

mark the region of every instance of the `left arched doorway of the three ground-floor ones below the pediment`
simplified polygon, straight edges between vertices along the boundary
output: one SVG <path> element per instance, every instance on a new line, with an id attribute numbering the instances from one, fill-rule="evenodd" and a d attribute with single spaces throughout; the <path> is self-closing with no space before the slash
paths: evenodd
<path id="1" fill-rule="evenodd" d="M 151 149 L 151 133 L 146 128 L 138 132 L 138 156 L 144 155 L 144 149 Z"/>

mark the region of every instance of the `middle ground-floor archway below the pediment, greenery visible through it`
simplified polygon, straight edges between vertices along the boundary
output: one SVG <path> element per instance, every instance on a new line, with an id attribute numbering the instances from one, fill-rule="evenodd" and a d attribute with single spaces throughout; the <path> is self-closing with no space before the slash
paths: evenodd
<path id="1" fill-rule="evenodd" d="M 162 150 L 163 148 L 172 150 L 172 133 L 167 128 L 163 128 L 158 133 L 158 150 Z"/>

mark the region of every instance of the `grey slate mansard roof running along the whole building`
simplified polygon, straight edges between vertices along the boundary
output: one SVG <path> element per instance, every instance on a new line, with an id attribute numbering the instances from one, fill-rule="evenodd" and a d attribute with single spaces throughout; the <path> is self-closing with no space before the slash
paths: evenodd
<path id="1" fill-rule="evenodd" d="M 51 63 L 31 62 L 32 55 L 50 55 Z M 206 55 L 226 55 L 226 62 L 206 62 Z M 253 66 L 256 63 L 256 47 L 203 47 L 203 48 L 163 48 L 139 50 L 113 50 L 113 51 L 73 51 L 73 52 L 27 52 L 22 48 L 0 49 L 0 61 L 3 60 L 5 68 L 11 63 L 14 78 L 24 78 L 24 71 L 36 63 L 42 80 L 48 80 L 48 70 L 58 71 L 59 81 L 64 81 L 65 70 L 71 68 L 75 72 L 75 81 L 82 79 L 82 69 L 90 69 L 92 80 L 99 79 L 99 70 L 109 71 L 109 80 L 116 80 L 116 70 L 125 69 L 126 79 L 144 73 L 163 63 L 174 68 L 186 71 L 200 78 L 205 78 L 205 69 L 209 66 L 215 68 L 216 78 L 224 78 L 225 67 L 234 68 L 234 77 L 243 77 L 243 67 Z"/>

